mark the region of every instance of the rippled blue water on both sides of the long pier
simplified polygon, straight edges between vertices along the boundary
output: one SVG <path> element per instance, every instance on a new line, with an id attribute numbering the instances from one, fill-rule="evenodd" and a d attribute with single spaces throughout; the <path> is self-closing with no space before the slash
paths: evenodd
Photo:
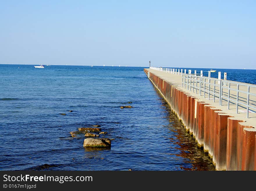
<path id="1" fill-rule="evenodd" d="M 144 68 L 1 64 L 0 170 L 214 171 Z M 216 70 L 256 83 L 255 70 Z M 110 148 L 70 134 L 93 125 Z"/>

